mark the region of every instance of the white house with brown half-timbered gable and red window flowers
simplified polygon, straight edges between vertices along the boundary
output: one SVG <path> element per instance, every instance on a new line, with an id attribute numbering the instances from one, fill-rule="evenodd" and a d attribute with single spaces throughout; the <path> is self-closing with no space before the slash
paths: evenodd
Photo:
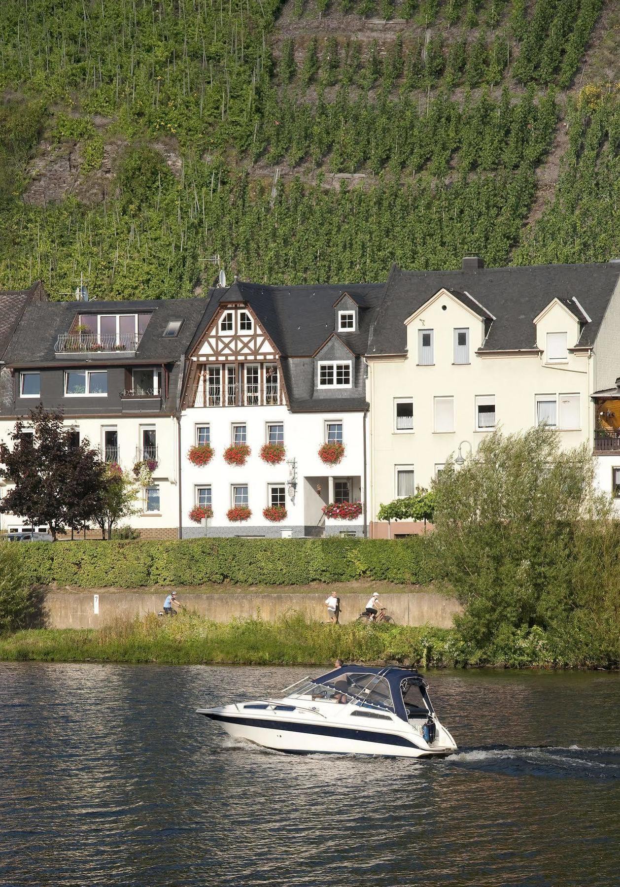
<path id="1" fill-rule="evenodd" d="M 364 353 L 381 288 L 345 294 L 341 287 L 238 283 L 216 290 L 184 384 L 184 537 L 365 532 Z M 213 456 L 197 466 L 188 453 L 204 443 Z M 324 443 L 341 443 L 341 459 L 326 464 Z M 226 453 L 234 444 L 249 450 L 242 464 Z M 265 459 L 265 444 L 284 448 L 281 461 Z M 323 512 L 345 503 L 362 503 L 353 520 Z M 189 519 L 196 505 L 213 510 L 206 526 Z M 273 521 L 274 507 L 286 517 Z M 239 508 L 249 509 L 246 520 L 236 519 Z"/>

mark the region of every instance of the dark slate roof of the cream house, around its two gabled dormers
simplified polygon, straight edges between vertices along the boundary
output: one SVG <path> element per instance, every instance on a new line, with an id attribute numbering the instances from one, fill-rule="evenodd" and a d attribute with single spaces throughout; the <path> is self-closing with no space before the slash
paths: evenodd
<path id="1" fill-rule="evenodd" d="M 569 307 L 583 322 L 578 345 L 591 346 L 619 279 L 620 263 L 534 265 L 471 271 L 401 271 L 393 265 L 373 325 L 368 354 L 404 354 L 405 319 L 442 287 L 454 293 L 470 294 L 484 310 L 495 316 L 484 342 L 485 351 L 535 348 L 534 318 L 554 298 Z M 589 322 L 572 301 L 575 298 L 589 316 Z M 475 310 L 471 303 L 469 307 Z"/>

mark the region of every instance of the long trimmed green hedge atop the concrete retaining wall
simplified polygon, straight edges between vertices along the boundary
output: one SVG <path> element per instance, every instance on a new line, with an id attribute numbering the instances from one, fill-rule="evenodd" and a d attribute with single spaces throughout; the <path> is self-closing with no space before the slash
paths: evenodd
<path id="1" fill-rule="evenodd" d="M 431 580 L 424 539 L 188 539 L 180 542 L 36 542 L 19 546 L 33 585 L 307 585 Z"/>

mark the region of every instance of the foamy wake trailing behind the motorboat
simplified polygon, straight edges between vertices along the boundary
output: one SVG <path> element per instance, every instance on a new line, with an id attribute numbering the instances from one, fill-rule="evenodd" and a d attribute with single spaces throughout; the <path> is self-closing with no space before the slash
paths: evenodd
<path id="1" fill-rule="evenodd" d="M 620 779 L 620 746 L 585 749 L 578 745 L 561 746 L 486 746 L 461 749 L 447 758 L 447 763 L 509 776 L 544 776 L 547 779 Z"/>

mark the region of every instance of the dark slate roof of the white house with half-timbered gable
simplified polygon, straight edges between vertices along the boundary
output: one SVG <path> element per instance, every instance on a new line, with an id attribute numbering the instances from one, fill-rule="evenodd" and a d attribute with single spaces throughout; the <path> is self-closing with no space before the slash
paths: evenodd
<path id="1" fill-rule="evenodd" d="M 334 332 L 334 302 L 348 293 L 359 307 L 355 333 L 339 333 L 351 351 L 365 354 L 373 309 L 385 284 L 334 284 L 330 286 L 268 287 L 238 281 L 231 287 L 212 290 L 205 316 L 192 345 L 200 340 L 220 305 L 247 302 L 280 354 L 309 357 Z"/>

